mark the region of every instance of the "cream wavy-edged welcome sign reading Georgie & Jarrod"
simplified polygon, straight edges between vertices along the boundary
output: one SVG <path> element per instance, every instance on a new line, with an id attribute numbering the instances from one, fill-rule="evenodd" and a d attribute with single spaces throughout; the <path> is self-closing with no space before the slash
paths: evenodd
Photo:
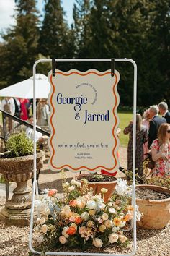
<path id="1" fill-rule="evenodd" d="M 48 73 L 48 80 L 49 168 L 117 171 L 119 72 L 111 77 L 110 70 L 56 70 L 55 77 Z"/>

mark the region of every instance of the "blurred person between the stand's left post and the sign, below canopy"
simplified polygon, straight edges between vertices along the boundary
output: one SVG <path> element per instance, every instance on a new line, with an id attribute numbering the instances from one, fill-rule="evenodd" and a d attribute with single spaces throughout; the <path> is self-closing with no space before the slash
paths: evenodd
<path id="1" fill-rule="evenodd" d="M 48 126 L 48 115 L 50 114 L 50 107 L 47 104 L 47 100 L 41 99 L 37 103 L 37 125 L 40 127 Z"/>

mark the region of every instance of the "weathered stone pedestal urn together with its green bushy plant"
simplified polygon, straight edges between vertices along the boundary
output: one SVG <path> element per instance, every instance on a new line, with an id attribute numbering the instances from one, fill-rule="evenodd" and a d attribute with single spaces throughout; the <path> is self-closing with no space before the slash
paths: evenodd
<path id="1" fill-rule="evenodd" d="M 42 151 L 37 152 L 37 170 L 42 168 Z M 6 142 L 6 152 L 0 154 L 0 173 L 9 182 L 16 182 L 12 199 L 1 210 L 1 219 L 9 224 L 28 224 L 31 208 L 31 191 L 27 180 L 33 176 L 33 142 L 25 132 L 14 134 Z M 28 210 L 27 210 L 28 209 Z M 17 210 L 17 215 L 16 211 Z"/>

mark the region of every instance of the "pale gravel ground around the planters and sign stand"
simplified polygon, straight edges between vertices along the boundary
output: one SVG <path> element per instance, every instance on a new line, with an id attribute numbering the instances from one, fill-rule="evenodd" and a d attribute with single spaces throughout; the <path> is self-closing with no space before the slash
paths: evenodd
<path id="1" fill-rule="evenodd" d="M 127 153 L 122 148 L 120 155 L 121 166 L 126 167 Z M 58 174 L 53 174 L 51 171 L 44 170 L 40 174 L 40 188 L 56 187 L 61 193 L 61 177 Z M 71 179 L 71 174 L 68 172 L 68 178 Z M 4 207 L 5 197 L 0 197 L 0 210 Z M 28 256 L 30 251 L 28 247 L 29 242 L 29 227 L 22 226 L 6 226 L 0 221 L 0 256 Z M 126 233 L 130 242 L 133 242 L 133 232 Z M 170 222 L 165 229 L 161 230 L 143 230 L 137 229 L 137 251 L 135 256 L 170 256 Z M 33 242 L 34 244 L 34 242 Z M 89 251 L 90 252 L 90 251 Z M 122 249 L 121 251 L 115 247 L 108 247 L 108 249 L 97 249 L 96 253 L 130 253 L 130 249 Z"/>

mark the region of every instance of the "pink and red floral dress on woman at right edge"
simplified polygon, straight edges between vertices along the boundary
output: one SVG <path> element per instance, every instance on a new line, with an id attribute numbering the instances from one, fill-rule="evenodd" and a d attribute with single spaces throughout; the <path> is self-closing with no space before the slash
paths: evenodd
<path id="1" fill-rule="evenodd" d="M 158 139 L 153 140 L 151 148 L 156 148 L 157 153 L 161 149 Z M 167 144 L 167 148 L 164 152 L 165 158 L 158 158 L 156 166 L 153 168 L 153 176 L 170 176 L 170 143 Z"/>

